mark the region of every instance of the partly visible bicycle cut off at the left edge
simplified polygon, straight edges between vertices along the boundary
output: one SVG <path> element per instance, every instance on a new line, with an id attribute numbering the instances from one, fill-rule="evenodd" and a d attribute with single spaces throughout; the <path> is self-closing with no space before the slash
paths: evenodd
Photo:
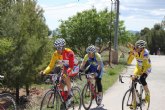
<path id="1" fill-rule="evenodd" d="M 0 80 L 3 79 L 4 76 L 0 75 Z M 0 110 L 17 110 L 13 95 L 9 93 L 0 93 Z"/>

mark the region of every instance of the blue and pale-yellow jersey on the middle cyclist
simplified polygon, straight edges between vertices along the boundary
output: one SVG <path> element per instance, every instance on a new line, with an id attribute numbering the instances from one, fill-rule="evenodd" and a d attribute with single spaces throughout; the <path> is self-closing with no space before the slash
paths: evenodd
<path id="1" fill-rule="evenodd" d="M 98 73 L 97 77 L 101 78 L 103 74 L 103 62 L 101 59 L 101 55 L 99 53 L 95 53 L 94 58 L 89 58 L 88 54 L 85 55 L 83 61 L 87 62 L 90 65 L 89 72 L 96 72 L 98 64 L 101 65 L 100 73 Z"/>

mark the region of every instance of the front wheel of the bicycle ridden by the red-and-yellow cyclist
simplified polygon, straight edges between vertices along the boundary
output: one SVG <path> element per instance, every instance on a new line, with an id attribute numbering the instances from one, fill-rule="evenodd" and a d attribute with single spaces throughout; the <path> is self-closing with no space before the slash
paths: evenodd
<path id="1" fill-rule="evenodd" d="M 49 90 L 45 93 L 41 101 L 40 110 L 65 110 L 65 108 L 62 107 L 65 106 L 61 100 L 60 94 L 54 90 Z"/>

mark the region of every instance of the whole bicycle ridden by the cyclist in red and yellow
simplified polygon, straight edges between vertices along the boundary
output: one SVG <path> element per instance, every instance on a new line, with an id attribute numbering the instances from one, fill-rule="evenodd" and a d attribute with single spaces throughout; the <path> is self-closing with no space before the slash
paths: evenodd
<path id="1" fill-rule="evenodd" d="M 73 93 L 73 101 L 69 106 L 67 106 L 67 97 L 68 91 L 61 90 L 61 84 L 65 84 L 62 78 L 61 72 L 59 74 L 49 74 L 53 87 L 48 90 L 42 101 L 40 110 L 67 110 L 75 107 L 78 107 L 78 110 L 81 109 L 81 92 L 78 86 L 74 85 L 71 87 Z M 74 83 L 75 77 L 71 77 L 71 82 Z M 77 109 L 76 109 L 77 110 Z"/>

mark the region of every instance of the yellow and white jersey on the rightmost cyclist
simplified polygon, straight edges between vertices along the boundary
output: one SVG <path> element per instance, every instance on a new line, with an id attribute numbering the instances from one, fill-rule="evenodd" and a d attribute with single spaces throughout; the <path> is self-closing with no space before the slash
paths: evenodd
<path id="1" fill-rule="evenodd" d="M 149 58 L 149 52 L 147 49 L 143 49 L 140 53 L 136 52 L 134 49 L 130 49 L 130 56 L 136 58 L 137 64 L 134 70 L 135 75 L 141 75 L 143 73 L 149 74 L 151 72 L 151 61 Z M 127 60 L 128 63 L 128 60 Z"/>

